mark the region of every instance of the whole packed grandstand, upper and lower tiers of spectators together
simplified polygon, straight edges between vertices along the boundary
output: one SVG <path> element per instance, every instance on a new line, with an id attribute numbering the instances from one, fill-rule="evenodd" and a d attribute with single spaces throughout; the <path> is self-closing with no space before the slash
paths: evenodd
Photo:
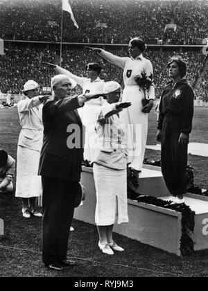
<path id="1" fill-rule="evenodd" d="M 62 67 L 85 76 L 87 62 L 100 62 L 103 79 L 122 82 L 122 71 L 87 51 L 85 45 L 103 44 L 107 51 L 125 56 L 129 40 L 139 36 L 150 45 L 145 56 L 153 63 L 157 98 L 167 81 L 166 63 L 175 54 L 187 62 L 187 79 L 193 85 L 205 59 L 201 46 L 208 37 L 208 1 L 70 3 L 79 28 L 64 13 L 62 40 L 71 44 L 63 45 Z M 61 13 L 60 0 L 0 0 L 0 38 L 5 40 L 5 55 L 0 55 L 1 92 L 20 94 L 28 79 L 36 80 L 42 87 L 50 85 L 53 71 L 42 62 L 55 62 L 57 58 Z M 205 76 L 196 88 L 196 98 L 207 101 L 207 92 Z"/>

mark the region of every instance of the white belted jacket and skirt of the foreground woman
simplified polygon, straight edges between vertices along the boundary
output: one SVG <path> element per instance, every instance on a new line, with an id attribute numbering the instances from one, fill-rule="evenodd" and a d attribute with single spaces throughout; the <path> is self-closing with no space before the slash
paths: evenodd
<path id="1" fill-rule="evenodd" d="M 129 221 L 125 125 L 115 105 L 106 103 L 97 114 L 98 145 L 93 172 L 98 226 Z"/>

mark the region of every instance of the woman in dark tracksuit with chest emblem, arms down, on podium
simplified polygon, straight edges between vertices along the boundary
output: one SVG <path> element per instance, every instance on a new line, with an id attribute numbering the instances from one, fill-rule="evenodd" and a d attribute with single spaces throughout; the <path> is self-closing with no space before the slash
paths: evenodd
<path id="1" fill-rule="evenodd" d="M 184 203 L 187 193 L 187 152 L 193 119 L 193 89 L 184 76 L 187 66 L 180 58 L 168 62 L 169 77 L 159 104 L 157 141 L 161 142 L 162 174 L 173 202 Z"/>

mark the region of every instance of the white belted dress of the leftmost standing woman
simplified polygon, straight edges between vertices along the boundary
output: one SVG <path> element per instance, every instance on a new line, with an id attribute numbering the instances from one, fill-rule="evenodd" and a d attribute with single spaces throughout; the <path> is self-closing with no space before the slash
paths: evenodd
<path id="1" fill-rule="evenodd" d="M 21 132 L 17 145 L 16 197 L 42 195 L 41 177 L 37 175 L 43 141 L 42 103 L 39 96 L 17 104 Z"/>

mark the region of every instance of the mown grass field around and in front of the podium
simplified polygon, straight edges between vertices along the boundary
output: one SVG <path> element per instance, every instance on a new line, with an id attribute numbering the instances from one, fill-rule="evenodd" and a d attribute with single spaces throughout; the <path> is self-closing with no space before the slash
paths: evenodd
<path id="1" fill-rule="evenodd" d="M 208 143 L 208 109 L 196 108 L 191 141 Z M 148 144 L 155 144 L 155 114 L 150 114 Z M 16 159 L 19 135 L 17 109 L 0 109 L 0 148 Z M 159 152 L 146 151 L 148 159 Z M 196 184 L 207 188 L 208 158 L 189 155 L 195 168 Z M 123 254 L 105 256 L 98 249 L 96 227 L 74 221 L 75 231 L 69 241 L 69 256 L 78 265 L 62 273 L 50 272 L 42 265 L 41 221 L 24 220 L 21 204 L 15 197 L 0 196 L 0 218 L 5 222 L 5 236 L 0 238 L 0 276 L 73 276 L 73 277 L 140 277 L 140 276 L 208 276 L 208 250 L 177 258 L 159 249 L 115 234 L 116 242 L 125 247 Z M 12 247 L 12 248 L 8 248 Z"/>

